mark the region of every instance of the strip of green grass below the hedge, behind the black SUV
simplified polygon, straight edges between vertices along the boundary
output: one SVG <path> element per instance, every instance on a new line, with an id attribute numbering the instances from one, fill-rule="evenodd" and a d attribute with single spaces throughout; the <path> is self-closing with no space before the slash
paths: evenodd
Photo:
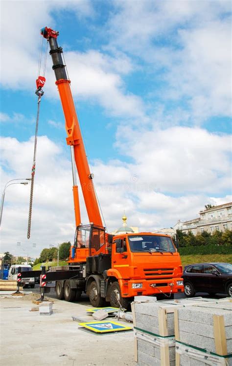
<path id="1" fill-rule="evenodd" d="M 224 262 L 232 263 L 232 254 L 195 254 L 181 255 L 182 266 L 193 263 Z"/>

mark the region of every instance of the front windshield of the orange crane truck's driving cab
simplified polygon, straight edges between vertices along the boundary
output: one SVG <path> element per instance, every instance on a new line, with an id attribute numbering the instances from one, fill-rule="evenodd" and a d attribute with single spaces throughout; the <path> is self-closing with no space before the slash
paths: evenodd
<path id="1" fill-rule="evenodd" d="M 131 235 L 128 239 L 132 252 L 176 252 L 168 236 Z"/>

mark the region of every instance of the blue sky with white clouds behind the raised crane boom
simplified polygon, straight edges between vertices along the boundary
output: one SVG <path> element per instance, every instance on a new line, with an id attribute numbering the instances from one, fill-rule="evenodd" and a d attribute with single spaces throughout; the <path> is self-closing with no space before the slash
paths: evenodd
<path id="1" fill-rule="evenodd" d="M 40 29 L 49 26 L 60 33 L 109 232 L 121 226 L 124 210 L 128 225 L 155 230 L 232 200 L 230 1 L 1 0 L 0 6 L 1 192 L 9 180 L 31 175 Z M 36 256 L 74 237 L 70 147 L 51 66 L 48 54 L 31 238 L 30 186 L 11 185 L 3 252 Z M 81 213 L 87 224 L 82 197 Z"/>

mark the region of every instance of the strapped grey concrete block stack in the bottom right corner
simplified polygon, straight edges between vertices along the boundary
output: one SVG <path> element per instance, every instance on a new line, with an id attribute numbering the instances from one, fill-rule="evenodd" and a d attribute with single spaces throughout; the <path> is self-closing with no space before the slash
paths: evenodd
<path id="1" fill-rule="evenodd" d="M 232 365 L 232 302 L 175 309 L 177 366 Z"/>

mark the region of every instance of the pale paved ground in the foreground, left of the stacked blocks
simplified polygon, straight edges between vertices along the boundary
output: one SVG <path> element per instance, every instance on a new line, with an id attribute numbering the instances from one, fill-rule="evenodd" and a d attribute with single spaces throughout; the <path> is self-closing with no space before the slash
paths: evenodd
<path id="1" fill-rule="evenodd" d="M 93 320 L 85 305 L 54 300 L 50 317 L 29 311 L 32 306 L 25 297 L 0 298 L 1 364 L 134 365 L 133 332 L 101 336 L 84 332 L 71 317 Z"/>

